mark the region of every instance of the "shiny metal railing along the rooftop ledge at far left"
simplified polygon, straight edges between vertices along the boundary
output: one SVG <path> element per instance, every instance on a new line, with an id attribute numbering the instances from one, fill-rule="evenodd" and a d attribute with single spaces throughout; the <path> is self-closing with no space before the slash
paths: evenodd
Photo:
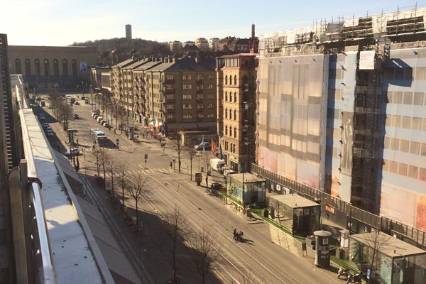
<path id="1" fill-rule="evenodd" d="M 50 249 L 50 241 L 48 238 L 47 222 L 45 220 L 45 209 L 43 206 L 43 198 L 41 196 L 40 183 L 38 181 L 37 170 L 35 169 L 35 160 L 33 150 L 31 148 L 30 136 L 28 133 L 27 123 L 23 114 L 24 107 L 28 106 L 27 102 L 18 97 L 19 102 L 19 119 L 21 120 L 21 133 L 23 141 L 23 152 L 27 164 L 28 192 L 23 189 L 23 195 L 28 194 L 30 202 L 31 218 L 31 235 L 33 252 L 33 271 L 35 273 L 35 283 L 56 283 L 55 269 L 52 261 L 52 253 Z M 25 209 L 25 208 L 24 208 Z M 25 215 L 24 215 L 25 216 Z M 30 249 L 30 248 L 28 248 Z M 29 251 L 29 250 L 28 250 Z"/>

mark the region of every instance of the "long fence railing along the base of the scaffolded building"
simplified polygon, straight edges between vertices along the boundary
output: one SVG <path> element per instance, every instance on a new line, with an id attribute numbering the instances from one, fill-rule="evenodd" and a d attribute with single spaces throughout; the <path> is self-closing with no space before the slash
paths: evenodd
<path id="1" fill-rule="evenodd" d="M 396 222 L 393 219 L 389 219 L 388 217 L 380 217 L 371 212 L 354 207 L 352 204 L 349 204 L 348 202 L 345 202 L 338 197 L 334 197 L 328 193 L 316 190 L 315 188 L 302 185 L 300 182 L 296 182 L 295 180 L 290 180 L 289 178 L 272 173 L 271 171 L 266 170 L 259 165 L 251 164 L 251 172 L 256 173 L 262 178 L 271 180 L 272 182 L 275 182 L 283 187 L 287 187 L 288 189 L 297 192 L 297 194 L 302 195 L 307 199 L 321 201 L 322 204 L 327 204 L 331 207 L 334 207 L 334 209 L 338 209 L 340 212 L 344 212 L 346 217 L 356 219 L 361 223 L 376 229 L 380 229 L 381 231 L 386 231 L 388 234 L 396 234 L 400 239 L 408 239 L 411 243 L 417 246 L 420 245 L 426 247 L 425 231 L 420 231 L 413 228 L 412 226 L 408 226 L 406 224 Z"/>

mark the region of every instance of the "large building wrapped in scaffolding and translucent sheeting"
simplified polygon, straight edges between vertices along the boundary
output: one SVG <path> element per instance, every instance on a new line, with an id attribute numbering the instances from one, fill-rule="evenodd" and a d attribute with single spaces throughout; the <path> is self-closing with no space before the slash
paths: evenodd
<path id="1" fill-rule="evenodd" d="M 290 190 L 425 230 L 425 16 L 416 8 L 261 35 L 258 165 Z"/>

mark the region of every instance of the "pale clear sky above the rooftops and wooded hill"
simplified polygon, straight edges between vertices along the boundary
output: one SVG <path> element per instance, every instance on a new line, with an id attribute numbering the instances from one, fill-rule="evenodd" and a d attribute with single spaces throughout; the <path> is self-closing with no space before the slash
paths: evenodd
<path id="1" fill-rule="evenodd" d="M 158 42 L 249 38 L 252 23 L 261 35 L 416 4 L 426 7 L 426 0 L 2 0 L 0 33 L 9 45 L 65 46 L 124 38 L 129 23 L 133 38 Z"/>

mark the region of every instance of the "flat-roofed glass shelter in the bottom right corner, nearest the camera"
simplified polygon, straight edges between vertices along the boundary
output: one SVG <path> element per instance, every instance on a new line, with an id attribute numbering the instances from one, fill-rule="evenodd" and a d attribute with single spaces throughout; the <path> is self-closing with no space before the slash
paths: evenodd
<path id="1" fill-rule="evenodd" d="M 371 283 L 426 283 L 426 251 L 383 232 L 350 235 L 349 259 Z"/>

